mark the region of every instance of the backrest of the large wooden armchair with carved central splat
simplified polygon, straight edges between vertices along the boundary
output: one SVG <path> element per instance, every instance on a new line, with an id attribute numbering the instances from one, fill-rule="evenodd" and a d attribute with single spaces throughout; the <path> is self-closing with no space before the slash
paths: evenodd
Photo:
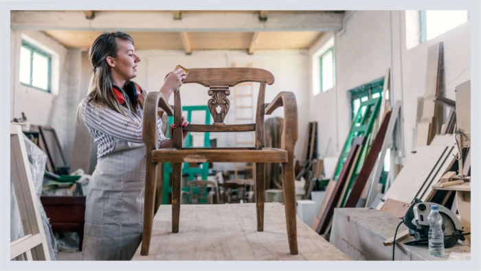
<path id="1" fill-rule="evenodd" d="M 242 82 L 259 82 L 259 94 L 257 102 L 256 123 L 226 125 L 225 116 L 230 109 L 230 87 Z M 264 109 L 265 109 L 265 87 L 266 84 L 274 83 L 274 76 L 269 71 L 256 68 L 208 68 L 208 69 L 189 69 L 186 80 L 183 84 L 201 84 L 208 87 L 208 108 L 214 123 L 212 125 L 189 124 L 183 130 L 189 132 L 251 132 L 256 131 L 256 148 L 262 148 L 264 144 Z M 181 122 L 181 91 L 174 93 L 174 122 Z M 262 131 L 262 138 L 260 132 Z M 259 138 L 257 140 L 257 134 Z M 181 130 L 174 130 L 172 136 L 173 147 L 181 148 Z M 259 141 L 259 142 L 257 142 Z"/>

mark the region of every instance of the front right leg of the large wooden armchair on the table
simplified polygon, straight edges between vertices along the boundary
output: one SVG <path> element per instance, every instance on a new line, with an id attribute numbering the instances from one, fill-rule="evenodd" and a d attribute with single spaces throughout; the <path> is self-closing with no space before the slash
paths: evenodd
<path id="1" fill-rule="evenodd" d="M 295 176 L 293 154 L 289 154 L 287 163 L 282 164 L 284 177 L 282 189 L 284 190 L 284 210 L 286 212 L 287 237 L 289 250 L 292 255 L 298 254 L 298 231 L 295 217 Z"/>

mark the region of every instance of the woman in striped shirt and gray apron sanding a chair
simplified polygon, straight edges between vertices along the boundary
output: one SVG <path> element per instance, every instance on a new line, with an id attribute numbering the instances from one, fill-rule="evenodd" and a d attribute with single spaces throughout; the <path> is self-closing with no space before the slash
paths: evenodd
<path id="1" fill-rule="evenodd" d="M 115 32 L 98 36 L 89 59 L 93 75 L 78 113 L 98 144 L 98 161 L 87 187 L 82 260 L 130 260 L 142 239 L 144 208 L 146 91 L 131 81 L 140 58 L 131 36 Z M 168 100 L 185 79 L 181 69 L 169 73 L 160 92 Z M 185 127 L 188 121 L 182 118 L 177 125 L 170 128 Z M 158 118 L 159 148 L 172 148 L 161 126 Z"/>

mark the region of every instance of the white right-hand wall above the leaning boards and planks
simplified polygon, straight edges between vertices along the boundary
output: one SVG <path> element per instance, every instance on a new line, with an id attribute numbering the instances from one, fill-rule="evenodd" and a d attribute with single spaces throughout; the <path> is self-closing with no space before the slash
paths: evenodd
<path id="1" fill-rule="evenodd" d="M 404 11 L 393 11 L 391 16 L 389 11 L 348 12 L 345 18 L 344 29 L 335 33 L 335 87 L 313 96 L 313 84 L 310 86 L 312 118 L 319 121 L 321 128 L 319 150 L 323 154 L 328 139 L 332 138 L 327 155 L 339 154 L 351 123 L 348 91 L 381 78 L 385 69 L 392 67 L 392 95 L 403 101 L 404 145 L 405 152 L 410 152 L 412 132 L 416 127 L 417 97 L 424 96 L 425 92 L 427 49 L 434 43 L 444 42 L 445 95 L 454 99 L 454 87 L 469 80 L 471 71 L 470 23 L 407 50 Z M 327 39 L 328 35 L 322 36 L 309 49 L 309 58 Z"/>

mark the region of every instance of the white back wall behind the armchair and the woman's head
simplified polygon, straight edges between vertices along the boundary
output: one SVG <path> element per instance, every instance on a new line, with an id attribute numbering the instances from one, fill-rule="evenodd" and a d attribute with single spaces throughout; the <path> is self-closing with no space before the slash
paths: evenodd
<path id="1" fill-rule="evenodd" d="M 310 121 L 309 117 L 309 58 L 306 50 L 259 50 L 254 55 L 248 55 L 245 51 L 193 51 L 191 55 L 186 55 L 180 50 L 138 50 L 136 54 L 141 61 L 137 67 L 137 78 L 135 82 L 143 86 L 147 91 L 159 91 L 164 83 L 164 77 L 172 71 L 177 64 L 181 64 L 187 69 L 191 68 L 214 68 L 232 67 L 236 62 L 237 67 L 247 67 L 252 62 L 253 67 L 266 69 L 273 73 L 275 82 L 266 88 L 265 102 L 271 102 L 280 91 L 293 91 L 298 103 L 299 119 L 299 140 L 296 144 L 295 155 L 302 155 L 302 148 L 306 137 L 306 126 Z M 82 88 L 89 84 L 91 76 L 91 64 L 87 60 L 87 54 L 82 54 Z M 243 86 L 239 91 L 247 91 Z M 257 104 L 259 84 L 254 83 L 254 112 Z M 210 96 L 207 94 L 208 88 L 199 84 L 185 84 L 181 87 L 182 106 L 207 105 Z M 83 91 L 85 94 L 87 90 Z M 225 123 L 234 123 L 234 91 L 227 96 L 230 99 L 231 107 Z M 169 101 L 174 104 L 173 95 Z M 239 104 L 242 101 L 239 102 Z M 238 111 L 238 114 L 245 113 Z M 247 114 L 247 113 L 246 113 Z M 273 116 L 283 117 L 282 108 L 276 110 Z M 194 118 L 195 123 L 203 123 L 205 115 L 198 115 Z M 266 116 L 266 119 L 271 117 Z M 250 116 L 249 116 L 250 117 Z M 212 121 L 212 118 L 211 118 Z M 254 134 L 254 133 L 252 133 Z M 243 137 L 249 137 L 244 135 Z M 234 135 L 232 133 L 211 133 L 210 138 L 217 139 L 218 147 L 233 147 Z M 246 139 L 247 140 L 247 139 Z M 230 169 L 232 165 L 218 163 L 216 169 Z"/>

